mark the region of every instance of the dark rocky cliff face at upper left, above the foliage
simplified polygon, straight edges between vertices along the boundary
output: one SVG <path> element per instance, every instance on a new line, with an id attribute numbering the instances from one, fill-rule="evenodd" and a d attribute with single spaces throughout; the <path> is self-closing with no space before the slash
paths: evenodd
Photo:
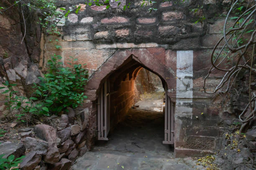
<path id="1" fill-rule="evenodd" d="M 3 0 L 3 7 L 10 7 L 14 0 Z M 24 19 L 23 19 L 24 17 Z M 30 87 L 38 82 L 40 72 L 38 62 L 40 57 L 40 25 L 38 16 L 33 10 L 20 5 L 13 6 L 0 14 L 0 87 L 8 80 L 15 83 L 15 90 L 20 95 L 29 95 Z M 26 23 L 26 29 L 25 29 Z M 0 92 L 6 89 L 1 89 Z M 5 105 L 5 95 L 0 95 L 0 117 L 8 114 Z"/>

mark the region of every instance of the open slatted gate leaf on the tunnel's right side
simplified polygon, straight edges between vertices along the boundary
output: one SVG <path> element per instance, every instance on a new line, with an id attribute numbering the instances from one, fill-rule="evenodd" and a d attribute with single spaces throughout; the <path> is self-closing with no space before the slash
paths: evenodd
<path id="1" fill-rule="evenodd" d="M 174 102 L 167 95 L 165 86 L 164 144 L 174 144 Z"/>

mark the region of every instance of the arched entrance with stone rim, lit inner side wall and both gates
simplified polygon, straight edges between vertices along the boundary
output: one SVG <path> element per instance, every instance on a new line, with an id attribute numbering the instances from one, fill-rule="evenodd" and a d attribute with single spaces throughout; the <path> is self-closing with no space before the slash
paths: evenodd
<path id="1" fill-rule="evenodd" d="M 133 105 L 134 96 L 131 84 L 142 67 L 161 78 L 166 91 L 163 143 L 174 144 L 174 100 L 172 99 L 176 95 L 170 90 L 170 87 L 174 89 L 176 86 L 174 72 L 146 49 L 115 52 L 88 82 L 87 89 L 96 90 L 98 140 L 108 140 L 111 123 L 117 123 L 122 119 L 120 112 L 125 114 L 128 108 Z M 120 91 L 126 92 L 127 90 L 131 92 L 120 93 Z M 111 116 L 111 114 L 115 114 L 115 116 Z M 111 120 L 110 117 L 115 118 Z"/>

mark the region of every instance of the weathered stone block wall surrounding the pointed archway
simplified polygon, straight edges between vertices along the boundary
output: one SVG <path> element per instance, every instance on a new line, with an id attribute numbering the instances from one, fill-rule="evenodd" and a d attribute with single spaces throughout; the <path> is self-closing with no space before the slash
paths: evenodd
<path id="1" fill-rule="evenodd" d="M 67 19 L 63 19 L 65 24 L 60 26 L 63 36 L 44 36 L 45 42 L 57 38 L 62 48 L 56 50 L 56 42 L 46 43 L 42 49 L 44 58 L 40 63 L 44 67 L 49 55 L 56 53 L 61 55 L 64 65 L 67 65 L 69 56 L 77 58 L 81 64 L 87 64 L 84 67 L 89 70 L 89 82 L 85 88 L 88 99 L 79 108 L 88 107 L 90 110 L 89 122 L 92 123 L 87 130 L 90 134 L 87 140 L 93 141 L 96 137 L 96 103 L 103 80 L 111 79 L 113 74 L 120 71 L 125 75 L 123 80 L 112 81 L 113 87 L 119 85 L 111 94 L 112 114 L 120 115 L 120 110 L 127 110 L 133 104 L 133 86 L 129 87 L 128 84 L 134 83 L 132 79 L 136 69 L 144 67 L 159 75 L 168 86 L 167 95 L 176 103 L 175 155 L 184 157 L 212 153 L 220 143 L 222 125 L 219 114 L 222 109 L 220 103 L 212 103 L 213 95 L 203 93 L 202 85 L 210 66 L 208 56 L 221 37 L 224 22 L 222 18 L 213 17 L 220 15 L 222 7 L 227 4 L 225 1 L 207 1 L 205 5 L 214 9 L 207 11 L 210 20 L 195 24 L 195 15 L 187 10 L 188 5 L 196 4 L 192 3 L 194 1 L 159 1 L 152 5 L 158 10 L 151 13 L 148 7 L 141 7 L 142 2 L 130 1 L 128 10 L 113 5 L 108 10 L 105 6 L 83 5 L 75 13 L 75 6 L 82 1 L 57 1 L 59 7 L 73 11 Z M 220 75 L 214 75 L 210 88 L 219 81 Z M 125 102 L 120 104 L 119 100 Z M 118 122 L 120 117 L 110 119 Z"/>

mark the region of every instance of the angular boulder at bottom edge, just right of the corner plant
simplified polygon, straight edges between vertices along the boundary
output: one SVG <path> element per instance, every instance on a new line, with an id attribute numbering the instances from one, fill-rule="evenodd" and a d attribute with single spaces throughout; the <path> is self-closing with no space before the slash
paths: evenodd
<path id="1" fill-rule="evenodd" d="M 38 155 L 36 152 L 30 152 L 23 161 L 20 163 L 21 170 L 33 170 L 36 168 L 38 163 L 41 161 L 41 155 Z"/>

